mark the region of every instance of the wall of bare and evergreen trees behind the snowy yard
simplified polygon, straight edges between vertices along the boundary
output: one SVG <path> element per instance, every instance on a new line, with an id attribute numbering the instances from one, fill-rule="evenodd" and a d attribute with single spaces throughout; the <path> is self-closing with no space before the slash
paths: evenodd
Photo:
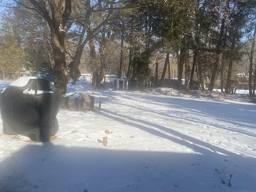
<path id="1" fill-rule="evenodd" d="M 255 94 L 256 0 L 10 0 L 0 9 L 0 72 L 51 72 L 61 94 L 80 70 L 186 91 L 246 81 Z M 240 78 L 238 80 L 238 75 Z M 241 78 L 242 77 L 242 78 Z"/>

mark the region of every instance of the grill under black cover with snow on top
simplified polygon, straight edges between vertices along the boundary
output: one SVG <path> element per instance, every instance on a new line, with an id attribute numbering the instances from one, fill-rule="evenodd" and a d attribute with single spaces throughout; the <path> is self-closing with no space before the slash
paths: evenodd
<path id="1" fill-rule="evenodd" d="M 48 80 L 21 77 L 0 93 L 4 134 L 47 141 L 58 132 L 60 92 Z"/>

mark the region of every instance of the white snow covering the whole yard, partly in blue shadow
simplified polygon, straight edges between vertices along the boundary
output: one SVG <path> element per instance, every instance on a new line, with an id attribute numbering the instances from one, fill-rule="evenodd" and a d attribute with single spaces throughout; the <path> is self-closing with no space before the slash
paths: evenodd
<path id="1" fill-rule="evenodd" d="M 0 120 L 1 192 L 256 191 L 256 104 L 246 94 L 67 89 L 102 107 L 60 108 L 53 141 L 3 134 Z"/>

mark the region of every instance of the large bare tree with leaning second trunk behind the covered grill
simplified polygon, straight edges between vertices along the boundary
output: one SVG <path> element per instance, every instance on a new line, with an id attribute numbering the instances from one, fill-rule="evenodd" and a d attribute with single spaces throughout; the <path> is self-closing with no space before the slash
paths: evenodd
<path id="1" fill-rule="evenodd" d="M 19 5 L 27 9 L 38 12 L 48 23 L 50 27 L 51 46 L 54 56 L 54 84 L 60 90 L 61 94 L 66 93 L 66 85 L 69 80 L 70 74 L 73 81 L 76 81 L 75 72 L 80 64 L 81 56 L 84 46 L 89 42 L 99 30 L 102 30 L 110 19 L 114 10 L 118 10 L 118 5 L 124 0 L 108 0 L 108 1 L 71 1 L 71 0 L 13 0 Z M 70 17 L 71 2 L 76 3 L 76 8 L 79 8 L 80 14 L 74 14 L 74 18 Z M 79 7 L 78 7 L 79 4 Z M 116 7 L 114 7 L 117 5 Z M 126 7 L 122 7 L 124 9 Z M 92 25 L 92 21 L 97 13 L 104 12 L 105 17 L 97 24 Z M 75 54 L 72 55 L 72 65 L 70 65 L 70 72 L 67 70 L 65 54 L 65 38 L 68 30 L 72 24 L 76 22 L 80 26 L 79 40 L 76 45 Z M 96 75 L 96 69 L 94 70 Z M 94 77 L 95 78 L 95 77 Z"/>

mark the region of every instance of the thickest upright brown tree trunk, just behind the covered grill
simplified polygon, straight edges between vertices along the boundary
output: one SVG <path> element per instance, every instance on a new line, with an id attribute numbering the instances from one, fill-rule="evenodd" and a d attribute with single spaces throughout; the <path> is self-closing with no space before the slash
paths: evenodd
<path id="1" fill-rule="evenodd" d="M 60 94 L 66 94 L 69 73 L 65 60 L 64 40 L 68 27 L 65 28 L 71 12 L 71 0 L 29 0 L 35 10 L 46 20 L 50 27 L 50 37 L 54 57 L 53 78 L 54 85 Z M 71 26 L 71 25 L 70 25 Z"/>

